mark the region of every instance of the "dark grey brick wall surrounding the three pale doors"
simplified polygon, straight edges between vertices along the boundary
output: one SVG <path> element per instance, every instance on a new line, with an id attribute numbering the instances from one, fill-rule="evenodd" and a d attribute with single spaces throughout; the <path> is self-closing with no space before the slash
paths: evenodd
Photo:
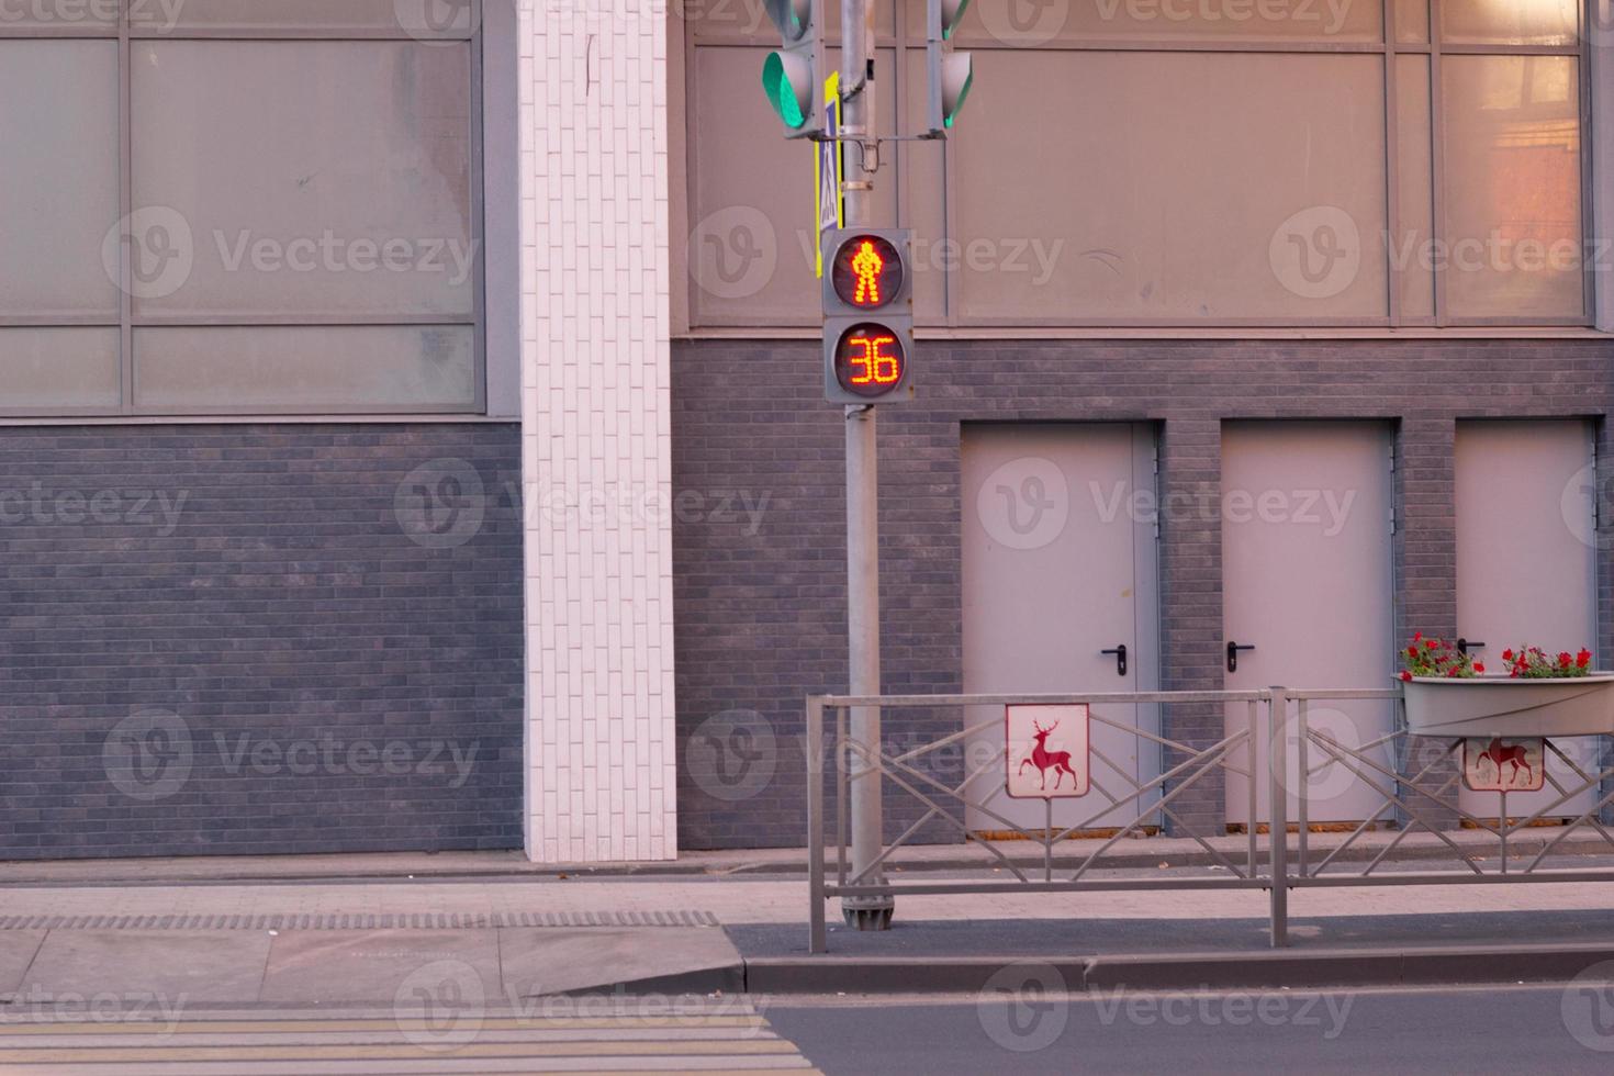
<path id="1" fill-rule="evenodd" d="M 1611 360 L 1614 345 L 1595 339 L 925 342 L 918 400 L 881 410 L 884 686 L 960 687 L 960 423 L 1154 421 L 1162 492 L 1219 495 L 1223 419 L 1388 419 L 1399 453 L 1398 624 L 1451 634 L 1456 419 L 1604 421 Z M 802 697 L 846 687 L 843 421 L 822 386 L 817 342 L 673 347 L 675 487 L 768 497 L 754 532 L 696 511 L 675 521 L 683 847 L 804 842 Z M 1606 550 L 1599 557 L 1609 655 L 1614 565 Z M 1169 521 L 1160 571 L 1165 687 L 1222 687 L 1220 528 Z M 709 760 L 686 750 L 688 739 L 736 708 L 775 734 L 775 774 L 755 795 L 713 795 Z M 1165 719 L 1167 734 L 1194 742 L 1222 732 L 1219 708 L 1175 707 Z M 886 723 L 899 742 L 957 728 L 941 713 Z M 1222 800 L 1206 781 L 1173 807 L 1188 826 L 1214 831 Z M 891 815 L 897 829 L 918 810 Z M 931 824 L 925 836 L 952 840 L 957 831 Z"/>

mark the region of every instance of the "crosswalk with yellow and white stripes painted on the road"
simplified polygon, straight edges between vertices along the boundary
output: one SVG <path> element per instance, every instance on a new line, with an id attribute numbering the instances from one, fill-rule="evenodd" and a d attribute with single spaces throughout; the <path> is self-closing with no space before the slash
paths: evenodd
<path id="1" fill-rule="evenodd" d="M 554 1000 L 554 1003 L 549 1003 Z M 542 1011 L 84 1013 L 0 1007 L 3 1076 L 605 1076 L 815 1073 L 747 999 L 546 999 Z M 579 1013 L 589 1015 L 579 1015 Z"/>

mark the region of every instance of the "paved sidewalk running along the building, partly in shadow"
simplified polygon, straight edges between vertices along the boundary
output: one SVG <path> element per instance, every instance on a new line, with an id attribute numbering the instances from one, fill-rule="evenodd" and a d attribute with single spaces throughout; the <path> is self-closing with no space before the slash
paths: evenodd
<path id="1" fill-rule="evenodd" d="M 1611 903 L 1611 882 L 1301 890 L 1294 949 L 1272 952 L 1261 890 L 904 894 L 896 929 L 839 928 L 828 957 L 809 957 L 799 876 L 24 884 L 0 889 L 0 994 L 21 1007 L 181 994 L 194 1008 L 386 1005 L 421 976 L 516 1000 L 975 991 L 1027 960 L 1073 987 L 1566 979 L 1614 960 Z"/>

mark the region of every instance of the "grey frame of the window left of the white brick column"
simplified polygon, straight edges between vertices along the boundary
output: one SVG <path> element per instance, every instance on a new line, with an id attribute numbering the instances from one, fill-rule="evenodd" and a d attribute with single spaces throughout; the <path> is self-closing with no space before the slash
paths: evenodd
<path id="1" fill-rule="evenodd" d="M 470 242 L 475 252 L 471 271 L 471 313 L 470 315 L 292 315 L 286 316 L 234 316 L 234 315 L 145 315 L 134 313 L 131 294 L 129 250 L 123 247 L 119 255 L 121 282 L 118 286 L 118 318 L 103 316 L 37 316 L 37 315 L 0 315 L 0 329 L 34 327 L 34 329 L 69 329 L 98 327 L 116 329 L 119 334 L 118 357 L 118 407 L 13 407 L 0 395 L 0 419 L 242 419 L 242 418 L 297 418 L 297 419 L 342 419 L 342 418 L 402 418 L 402 419 L 475 419 L 487 416 L 489 407 L 489 371 L 487 371 L 487 176 L 486 176 L 486 126 L 489 123 L 486 106 L 486 11 L 483 0 L 471 2 L 470 27 L 444 35 L 444 40 L 465 42 L 470 48 L 471 79 L 471 115 L 468 118 L 470 134 Z M 47 26 L 16 26 L 0 23 L 0 40 L 110 40 L 118 45 L 118 221 L 128 219 L 134 211 L 132 186 L 132 47 L 142 40 L 231 40 L 231 42 L 413 42 L 416 40 L 404 26 L 353 29 L 353 27 L 174 27 L 160 29 L 131 23 L 131 8 L 137 0 L 118 2 L 118 24 L 82 26 L 74 23 L 55 23 Z M 510 206 L 513 213 L 513 206 Z M 512 298 L 512 303 L 516 300 Z M 444 327 L 471 331 L 471 365 L 473 365 L 473 400 L 463 405 L 399 405 L 399 403 L 349 403 L 312 408 L 307 405 L 261 405 L 245 403 L 239 407 L 207 407 L 207 408 L 165 408 L 140 407 L 136 403 L 136 365 L 134 334 L 137 329 L 173 329 L 173 327 Z M 500 377 L 500 381 L 507 381 Z M 508 410 L 508 408 L 500 408 Z"/>

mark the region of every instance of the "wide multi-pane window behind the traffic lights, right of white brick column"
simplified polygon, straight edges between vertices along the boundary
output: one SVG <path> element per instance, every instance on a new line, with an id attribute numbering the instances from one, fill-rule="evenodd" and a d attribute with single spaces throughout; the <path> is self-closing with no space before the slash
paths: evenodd
<path id="1" fill-rule="evenodd" d="M 914 134 L 925 5 L 896 6 L 881 134 L 896 116 Z M 815 324 L 812 156 L 757 87 L 771 26 L 700 13 L 689 327 Z M 946 145 L 888 144 L 876 213 L 915 231 L 931 326 L 1590 324 L 1578 18 L 1575 0 L 975 3 L 964 116 Z"/>

